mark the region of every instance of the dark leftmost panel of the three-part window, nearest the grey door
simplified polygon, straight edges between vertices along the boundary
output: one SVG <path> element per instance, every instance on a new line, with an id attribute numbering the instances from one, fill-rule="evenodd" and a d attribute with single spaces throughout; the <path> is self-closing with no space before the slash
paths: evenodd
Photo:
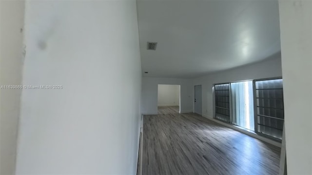
<path id="1" fill-rule="evenodd" d="M 230 84 L 215 85 L 215 118 L 230 123 Z"/>

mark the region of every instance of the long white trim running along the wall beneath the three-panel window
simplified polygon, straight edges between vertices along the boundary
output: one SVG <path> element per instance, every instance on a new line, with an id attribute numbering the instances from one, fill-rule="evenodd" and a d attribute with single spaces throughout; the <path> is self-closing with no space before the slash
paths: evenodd
<path id="1" fill-rule="evenodd" d="M 241 132 L 241 133 L 244 133 L 244 134 L 246 134 L 246 135 L 248 135 L 248 136 L 251 136 L 251 137 L 253 137 L 253 138 L 255 138 L 255 139 L 265 141 L 265 142 L 267 142 L 267 143 L 269 143 L 269 144 L 272 144 L 272 145 L 277 146 L 277 147 L 280 147 L 280 148 L 282 147 L 282 144 L 281 144 L 281 143 L 279 143 L 279 142 L 277 142 L 277 141 L 274 141 L 274 140 L 271 140 L 271 139 L 268 139 L 268 138 L 265 138 L 265 137 L 262 137 L 262 136 L 256 134 L 255 132 L 247 131 L 247 130 L 245 130 L 245 129 L 239 128 L 239 126 L 235 126 L 235 125 L 233 125 L 233 124 L 224 123 L 224 122 L 215 120 L 214 118 L 208 117 L 208 116 L 206 116 L 206 115 L 203 115 L 203 117 L 205 117 L 205 118 L 207 118 L 207 119 L 209 119 L 209 120 L 211 120 L 211 121 L 214 121 L 214 122 L 216 122 L 216 123 L 219 123 L 219 124 L 222 124 L 222 125 L 224 125 L 224 126 L 227 126 L 227 127 L 229 127 L 229 128 L 232 128 L 232 129 L 234 129 L 234 130 L 236 130 L 236 131 L 239 131 L 239 132 Z"/>

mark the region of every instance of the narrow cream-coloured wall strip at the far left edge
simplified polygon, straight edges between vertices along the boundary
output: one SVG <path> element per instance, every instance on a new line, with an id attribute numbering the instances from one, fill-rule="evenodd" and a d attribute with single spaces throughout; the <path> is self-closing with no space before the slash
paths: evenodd
<path id="1" fill-rule="evenodd" d="M 0 86 L 20 85 L 23 0 L 0 1 Z M 0 90 L 0 174 L 15 174 L 20 89 Z"/>

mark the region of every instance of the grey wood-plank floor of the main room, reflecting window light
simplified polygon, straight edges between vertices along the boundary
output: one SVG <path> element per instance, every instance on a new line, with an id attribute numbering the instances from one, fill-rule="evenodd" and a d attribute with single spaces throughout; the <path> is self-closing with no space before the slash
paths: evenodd
<path id="1" fill-rule="evenodd" d="M 194 113 L 144 116 L 143 175 L 277 175 L 280 148 Z"/>

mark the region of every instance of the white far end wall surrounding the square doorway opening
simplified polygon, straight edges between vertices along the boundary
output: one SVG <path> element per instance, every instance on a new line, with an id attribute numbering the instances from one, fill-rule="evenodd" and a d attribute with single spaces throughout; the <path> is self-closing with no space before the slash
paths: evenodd
<path id="1" fill-rule="evenodd" d="M 180 85 L 180 111 L 193 111 L 193 81 L 191 79 L 174 78 L 142 78 L 141 112 L 142 114 L 157 114 L 158 85 Z"/>

